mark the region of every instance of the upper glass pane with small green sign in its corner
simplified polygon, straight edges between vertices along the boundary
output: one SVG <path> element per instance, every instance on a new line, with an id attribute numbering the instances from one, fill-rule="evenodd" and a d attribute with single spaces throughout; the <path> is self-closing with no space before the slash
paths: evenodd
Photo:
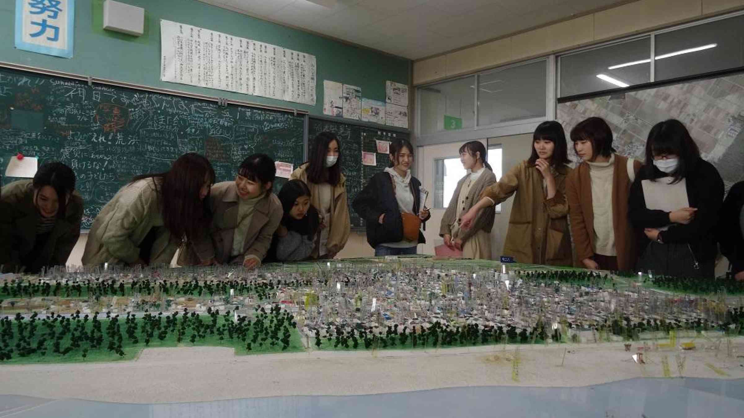
<path id="1" fill-rule="evenodd" d="M 419 89 L 421 135 L 475 126 L 475 77 Z"/>

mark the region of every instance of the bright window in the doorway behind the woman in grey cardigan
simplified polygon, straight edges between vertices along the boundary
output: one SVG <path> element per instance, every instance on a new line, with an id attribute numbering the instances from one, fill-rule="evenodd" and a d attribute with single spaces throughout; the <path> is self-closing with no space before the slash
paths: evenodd
<path id="1" fill-rule="evenodd" d="M 488 164 L 491 165 L 496 180 L 501 179 L 501 146 L 488 149 Z M 446 209 L 458 187 L 458 181 L 466 170 L 460 157 L 437 158 L 434 160 L 434 209 Z M 501 211 L 501 205 L 496 206 Z"/>

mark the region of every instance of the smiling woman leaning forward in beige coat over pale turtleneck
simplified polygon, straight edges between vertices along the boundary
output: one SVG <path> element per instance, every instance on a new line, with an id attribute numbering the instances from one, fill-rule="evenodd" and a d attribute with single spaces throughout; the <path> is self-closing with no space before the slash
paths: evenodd
<path id="1" fill-rule="evenodd" d="M 235 181 L 212 186 L 208 199 L 214 219 L 208 237 L 187 245 L 179 265 L 261 265 L 272 244 L 272 236 L 283 216 L 281 203 L 272 193 L 276 176 L 274 160 L 254 154 L 243 160 Z"/>

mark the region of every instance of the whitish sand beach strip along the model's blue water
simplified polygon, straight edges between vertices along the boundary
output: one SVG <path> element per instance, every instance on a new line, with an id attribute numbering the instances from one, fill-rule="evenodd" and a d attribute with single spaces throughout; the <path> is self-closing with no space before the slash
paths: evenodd
<path id="1" fill-rule="evenodd" d="M 575 387 L 635 377 L 675 379 L 680 367 L 686 377 L 744 378 L 744 338 L 694 342 L 695 350 L 645 351 L 644 364 L 632 358 L 644 341 L 633 341 L 630 351 L 623 342 L 254 356 L 234 356 L 225 347 L 153 348 L 135 361 L 0 366 L 0 393 L 160 403 L 459 386 Z"/>

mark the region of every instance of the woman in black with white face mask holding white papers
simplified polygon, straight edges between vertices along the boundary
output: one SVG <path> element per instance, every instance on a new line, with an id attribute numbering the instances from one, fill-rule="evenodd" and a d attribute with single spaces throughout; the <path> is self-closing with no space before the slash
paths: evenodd
<path id="1" fill-rule="evenodd" d="M 700 158 L 690 133 L 675 119 L 653 126 L 646 161 L 628 202 L 630 221 L 649 239 L 638 270 L 712 279 L 714 227 L 724 194 L 718 170 Z"/>

